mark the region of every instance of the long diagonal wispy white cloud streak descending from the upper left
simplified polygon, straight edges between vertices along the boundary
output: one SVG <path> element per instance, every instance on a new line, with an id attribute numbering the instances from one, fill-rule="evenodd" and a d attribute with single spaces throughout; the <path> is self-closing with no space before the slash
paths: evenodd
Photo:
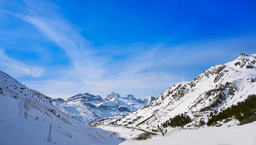
<path id="1" fill-rule="evenodd" d="M 70 74 L 87 80 L 99 78 L 104 73 L 101 63 L 97 62 L 92 54 L 90 42 L 79 35 L 60 14 L 53 11 L 54 4 L 41 3 L 44 7 L 37 9 L 38 4 L 31 1 L 26 3 L 31 13 L 20 18 L 34 25 L 52 42 L 64 49 L 73 64 L 73 71 L 69 72 Z M 52 10 L 50 15 L 47 13 L 48 9 Z"/>

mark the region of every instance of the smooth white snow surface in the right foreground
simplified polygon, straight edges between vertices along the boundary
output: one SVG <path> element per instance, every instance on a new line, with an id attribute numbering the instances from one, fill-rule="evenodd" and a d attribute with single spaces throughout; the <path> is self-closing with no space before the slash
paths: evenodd
<path id="1" fill-rule="evenodd" d="M 120 145 L 256 145 L 256 122 L 242 126 L 187 129 L 145 141 L 128 140 Z"/>

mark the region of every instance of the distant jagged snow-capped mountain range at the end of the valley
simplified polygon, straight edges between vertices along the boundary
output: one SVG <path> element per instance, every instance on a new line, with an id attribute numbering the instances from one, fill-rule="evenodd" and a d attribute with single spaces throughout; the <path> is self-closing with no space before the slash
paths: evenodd
<path id="1" fill-rule="evenodd" d="M 136 99 L 133 95 L 121 97 L 119 93 L 112 92 L 105 99 L 101 96 L 95 96 L 89 93 L 79 93 L 64 101 L 61 98 L 52 99 L 52 104 L 66 113 L 67 115 L 79 120 L 83 123 L 88 123 L 94 119 L 128 115 L 129 113 L 138 110 L 145 104 L 152 102 L 154 96 L 149 96 L 143 100 Z"/>

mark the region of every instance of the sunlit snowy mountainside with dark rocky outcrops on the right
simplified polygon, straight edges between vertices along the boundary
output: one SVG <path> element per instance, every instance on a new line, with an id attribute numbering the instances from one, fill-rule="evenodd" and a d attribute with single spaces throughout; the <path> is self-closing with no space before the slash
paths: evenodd
<path id="1" fill-rule="evenodd" d="M 151 129 L 183 113 L 193 120 L 187 127 L 198 127 L 200 119 L 207 122 L 211 112 L 220 112 L 256 94 L 255 86 L 256 54 L 242 53 L 234 61 L 212 66 L 192 81 L 183 81 L 164 90 L 157 99 L 136 112 L 103 124 Z M 231 122 L 230 125 L 239 123 L 234 119 Z"/>

